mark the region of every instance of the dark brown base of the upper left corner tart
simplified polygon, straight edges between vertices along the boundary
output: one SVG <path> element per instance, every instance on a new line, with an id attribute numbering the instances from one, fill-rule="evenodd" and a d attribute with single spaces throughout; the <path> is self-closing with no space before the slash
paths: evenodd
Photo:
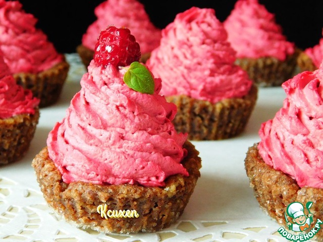
<path id="1" fill-rule="evenodd" d="M 61 95 L 70 65 L 63 61 L 52 68 L 40 73 L 16 73 L 17 84 L 30 89 L 33 96 L 40 99 L 39 107 L 46 107 L 56 103 Z"/>

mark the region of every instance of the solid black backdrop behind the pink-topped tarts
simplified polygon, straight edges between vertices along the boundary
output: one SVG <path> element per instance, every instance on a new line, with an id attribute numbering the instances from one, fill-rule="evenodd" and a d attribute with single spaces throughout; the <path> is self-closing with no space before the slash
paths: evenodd
<path id="1" fill-rule="evenodd" d="M 20 0 L 23 9 L 33 14 L 40 28 L 61 53 L 76 52 L 87 27 L 96 20 L 94 8 L 104 0 Z M 158 28 L 171 23 L 177 13 L 196 6 L 213 8 L 217 18 L 223 22 L 234 7 L 236 0 L 183 0 L 154 1 L 139 0 L 151 22 Z M 322 37 L 322 0 L 259 0 L 266 9 L 274 13 L 276 22 L 283 28 L 287 39 L 299 48 L 312 47 Z"/>

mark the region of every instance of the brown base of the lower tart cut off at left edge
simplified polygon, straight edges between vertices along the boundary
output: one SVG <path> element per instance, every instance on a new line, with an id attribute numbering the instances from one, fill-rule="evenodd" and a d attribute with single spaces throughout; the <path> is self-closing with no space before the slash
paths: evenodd
<path id="1" fill-rule="evenodd" d="M 0 165 L 22 158 L 30 146 L 39 120 L 39 108 L 34 114 L 19 114 L 0 119 Z"/>

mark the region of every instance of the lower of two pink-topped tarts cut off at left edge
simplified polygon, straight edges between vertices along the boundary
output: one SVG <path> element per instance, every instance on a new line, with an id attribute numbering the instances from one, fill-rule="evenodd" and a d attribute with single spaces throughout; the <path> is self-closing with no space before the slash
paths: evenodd
<path id="1" fill-rule="evenodd" d="M 16 84 L 0 51 L 0 165 L 22 158 L 34 137 L 39 99 Z"/>

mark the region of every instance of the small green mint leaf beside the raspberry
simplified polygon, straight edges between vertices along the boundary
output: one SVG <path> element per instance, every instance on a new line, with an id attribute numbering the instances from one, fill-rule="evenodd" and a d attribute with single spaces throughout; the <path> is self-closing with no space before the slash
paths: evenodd
<path id="1" fill-rule="evenodd" d="M 133 62 L 125 73 L 123 81 L 131 89 L 147 94 L 153 94 L 155 82 L 148 69 L 139 62 Z"/>

